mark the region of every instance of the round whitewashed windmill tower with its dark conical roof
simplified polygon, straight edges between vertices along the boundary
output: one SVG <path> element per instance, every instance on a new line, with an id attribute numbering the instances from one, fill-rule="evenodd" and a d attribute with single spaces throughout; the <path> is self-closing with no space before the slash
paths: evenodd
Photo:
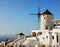
<path id="1" fill-rule="evenodd" d="M 40 27 L 41 30 L 48 30 L 48 28 L 50 28 L 52 30 L 53 29 L 53 22 L 52 22 L 52 20 L 53 20 L 53 15 L 47 9 L 41 15 L 41 27 Z"/>

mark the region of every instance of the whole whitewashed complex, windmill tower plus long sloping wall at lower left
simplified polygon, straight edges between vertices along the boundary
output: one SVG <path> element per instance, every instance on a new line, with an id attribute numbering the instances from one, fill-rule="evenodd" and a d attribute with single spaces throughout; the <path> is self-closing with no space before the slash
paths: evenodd
<path id="1" fill-rule="evenodd" d="M 54 23 L 56 22 L 56 23 Z M 19 47 L 21 44 L 25 47 L 60 47 L 60 20 L 53 20 L 53 15 L 46 10 L 41 15 L 40 30 L 32 30 L 33 37 L 17 38 L 13 41 L 14 47 Z"/>

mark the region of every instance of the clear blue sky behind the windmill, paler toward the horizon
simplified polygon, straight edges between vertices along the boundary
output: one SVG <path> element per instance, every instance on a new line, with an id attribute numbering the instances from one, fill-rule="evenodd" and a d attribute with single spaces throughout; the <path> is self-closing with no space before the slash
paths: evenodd
<path id="1" fill-rule="evenodd" d="M 40 0 L 41 13 L 48 9 L 60 18 L 60 0 Z M 0 34 L 30 34 L 37 29 L 38 0 L 0 0 Z"/>

